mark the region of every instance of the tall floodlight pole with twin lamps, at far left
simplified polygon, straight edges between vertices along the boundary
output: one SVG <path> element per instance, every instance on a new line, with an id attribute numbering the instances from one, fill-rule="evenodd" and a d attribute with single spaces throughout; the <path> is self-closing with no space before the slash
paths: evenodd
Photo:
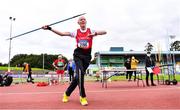
<path id="1" fill-rule="evenodd" d="M 11 61 L 10 61 L 10 59 L 11 59 L 11 36 L 12 36 L 12 22 L 13 21 L 15 21 L 16 20 L 16 18 L 13 18 L 13 17 L 9 17 L 9 20 L 11 21 L 10 22 L 10 33 L 9 33 L 9 62 L 8 62 L 8 72 L 10 72 L 11 71 Z"/>

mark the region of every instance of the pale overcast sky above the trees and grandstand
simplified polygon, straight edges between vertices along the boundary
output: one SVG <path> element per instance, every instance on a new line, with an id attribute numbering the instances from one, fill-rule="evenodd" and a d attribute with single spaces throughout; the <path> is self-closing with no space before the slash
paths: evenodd
<path id="1" fill-rule="evenodd" d="M 180 0 L 1 0 L 0 4 L 0 62 L 8 62 L 10 20 L 12 36 L 87 13 L 87 26 L 106 30 L 96 37 L 92 55 L 108 51 L 112 46 L 125 51 L 143 51 L 147 42 L 167 50 L 172 40 L 180 40 Z M 77 18 L 53 26 L 60 31 L 75 31 Z M 175 39 L 169 39 L 175 35 Z M 169 39 L 169 41 L 168 41 Z M 63 54 L 72 58 L 75 39 L 59 37 L 39 30 L 12 40 L 12 54 Z M 156 50 L 156 49 L 155 49 Z"/>

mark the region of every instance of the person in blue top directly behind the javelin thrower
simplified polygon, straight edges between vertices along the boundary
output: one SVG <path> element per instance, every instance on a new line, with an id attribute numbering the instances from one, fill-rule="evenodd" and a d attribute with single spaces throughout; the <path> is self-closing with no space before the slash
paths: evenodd
<path id="1" fill-rule="evenodd" d="M 74 79 L 74 71 L 76 70 L 76 66 L 73 59 L 69 60 L 67 70 L 69 73 L 69 81 L 71 82 Z"/>

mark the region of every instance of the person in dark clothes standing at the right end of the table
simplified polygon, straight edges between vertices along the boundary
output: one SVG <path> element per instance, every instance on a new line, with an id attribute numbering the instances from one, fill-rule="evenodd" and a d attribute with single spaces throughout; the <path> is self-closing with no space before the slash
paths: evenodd
<path id="1" fill-rule="evenodd" d="M 155 61 L 154 59 L 151 57 L 151 53 L 147 52 L 147 56 L 145 58 L 145 70 L 146 70 L 146 85 L 149 86 L 149 75 L 150 75 L 150 79 L 151 79 L 151 86 L 156 86 L 153 82 L 153 72 L 152 69 L 155 66 Z"/>

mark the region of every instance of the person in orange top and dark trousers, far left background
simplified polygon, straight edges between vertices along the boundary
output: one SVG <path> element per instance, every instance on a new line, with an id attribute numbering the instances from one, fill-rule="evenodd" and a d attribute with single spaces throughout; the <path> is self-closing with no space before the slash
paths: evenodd
<path id="1" fill-rule="evenodd" d="M 32 70 L 31 70 L 31 65 L 30 64 L 24 62 L 24 64 L 23 64 L 23 72 L 28 74 L 27 82 L 34 83 L 33 82 L 34 79 L 32 78 Z"/>

